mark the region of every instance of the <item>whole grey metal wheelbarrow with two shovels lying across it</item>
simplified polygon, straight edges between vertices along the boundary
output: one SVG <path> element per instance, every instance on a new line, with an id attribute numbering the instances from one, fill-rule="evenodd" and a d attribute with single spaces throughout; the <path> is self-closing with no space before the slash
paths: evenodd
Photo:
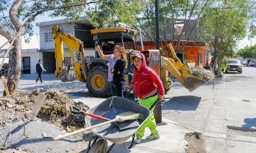
<path id="1" fill-rule="evenodd" d="M 152 107 L 154 107 L 154 105 Z M 106 99 L 101 104 L 99 104 L 97 107 L 91 108 L 88 113 L 113 119 L 116 115 L 128 111 L 143 114 L 144 120 L 137 120 L 137 127 L 127 128 L 123 130 L 113 124 L 108 124 L 91 129 L 87 152 L 111 152 L 112 148 L 116 144 L 124 144 L 127 149 L 133 147 L 136 131 L 150 117 L 150 111 L 148 110 L 148 108 L 142 105 L 138 105 L 133 101 L 124 99 L 122 97 L 110 97 L 109 99 Z M 86 116 L 85 120 L 87 126 L 93 126 L 104 122 L 91 116 Z M 131 144 L 129 147 L 127 147 L 125 142 L 129 140 L 130 137 L 132 137 Z M 108 150 L 107 140 L 112 142 L 112 145 L 111 147 L 109 147 Z M 93 143 L 91 143 L 92 141 Z"/>

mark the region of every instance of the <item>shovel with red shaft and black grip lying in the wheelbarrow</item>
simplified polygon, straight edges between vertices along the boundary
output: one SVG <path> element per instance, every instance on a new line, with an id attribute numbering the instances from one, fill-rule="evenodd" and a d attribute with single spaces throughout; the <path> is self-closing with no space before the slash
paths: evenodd
<path id="1" fill-rule="evenodd" d="M 105 118 L 103 116 L 99 116 L 99 115 L 91 114 L 89 112 L 82 111 L 82 110 L 80 110 L 80 108 L 75 107 L 75 106 L 70 106 L 70 111 L 73 114 L 84 114 L 87 116 L 91 116 L 93 118 L 101 119 L 103 121 L 111 121 L 111 119 Z M 138 127 L 138 126 L 140 126 L 140 123 L 138 122 L 137 119 L 134 119 L 134 120 L 127 120 L 125 122 L 112 122 L 112 125 L 118 126 L 118 128 L 120 130 L 123 130 L 123 129 Z"/>

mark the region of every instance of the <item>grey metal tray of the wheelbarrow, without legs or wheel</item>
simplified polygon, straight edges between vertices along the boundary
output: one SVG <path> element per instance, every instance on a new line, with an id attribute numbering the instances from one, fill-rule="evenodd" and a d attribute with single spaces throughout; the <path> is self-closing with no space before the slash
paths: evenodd
<path id="1" fill-rule="evenodd" d="M 108 125 L 100 126 L 98 128 L 91 129 L 91 132 L 95 135 L 102 137 L 102 139 L 106 139 L 115 144 L 125 143 L 134 133 L 140 128 L 140 126 L 150 117 L 150 111 L 148 108 L 138 105 L 133 101 L 124 99 L 122 97 L 110 97 L 97 107 L 91 108 L 88 112 L 92 114 L 96 114 L 99 116 L 104 116 L 105 118 L 115 119 L 116 115 L 119 115 L 122 112 L 132 111 L 136 113 L 142 113 L 144 115 L 144 120 L 138 119 L 139 123 L 138 127 L 123 129 L 120 130 L 118 126 L 115 126 L 111 123 Z M 102 123 L 99 119 L 91 118 L 91 116 L 86 116 L 86 125 L 93 126 L 98 123 Z"/>

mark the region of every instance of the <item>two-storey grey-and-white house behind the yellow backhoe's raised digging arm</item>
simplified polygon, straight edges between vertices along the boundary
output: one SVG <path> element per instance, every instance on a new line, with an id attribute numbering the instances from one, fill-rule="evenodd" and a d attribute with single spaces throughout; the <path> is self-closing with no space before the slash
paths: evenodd
<path id="1" fill-rule="evenodd" d="M 84 51 L 86 52 L 87 61 L 93 60 L 95 56 L 95 48 L 93 35 L 91 35 L 90 30 L 93 29 L 93 26 L 90 24 L 86 17 L 81 17 L 80 20 L 71 21 L 71 20 L 54 20 L 54 21 L 45 21 L 41 23 L 36 23 L 36 26 L 40 30 L 40 52 L 42 52 L 42 64 L 47 72 L 54 72 L 56 69 L 56 59 L 55 59 L 55 44 L 54 38 L 52 35 L 52 27 L 54 25 L 59 25 L 63 30 L 66 30 L 74 37 L 80 39 L 84 42 Z M 71 56 L 69 49 L 64 44 L 65 49 L 65 65 L 70 64 Z"/>

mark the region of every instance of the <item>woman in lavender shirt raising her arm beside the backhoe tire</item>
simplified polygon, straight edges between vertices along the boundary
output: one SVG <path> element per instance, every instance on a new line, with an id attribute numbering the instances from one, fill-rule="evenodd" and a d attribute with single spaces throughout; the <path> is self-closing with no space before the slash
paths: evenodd
<path id="1" fill-rule="evenodd" d="M 99 46 L 97 46 L 96 49 L 97 49 L 99 57 L 101 57 L 101 59 L 109 60 L 109 65 L 108 65 L 108 82 L 110 83 L 110 92 L 111 92 L 112 96 L 116 96 L 116 90 L 115 90 L 115 86 L 113 85 L 113 74 L 111 72 L 111 69 L 116 64 L 117 59 L 116 59 L 114 54 L 105 55 L 101 51 L 101 48 Z"/>

